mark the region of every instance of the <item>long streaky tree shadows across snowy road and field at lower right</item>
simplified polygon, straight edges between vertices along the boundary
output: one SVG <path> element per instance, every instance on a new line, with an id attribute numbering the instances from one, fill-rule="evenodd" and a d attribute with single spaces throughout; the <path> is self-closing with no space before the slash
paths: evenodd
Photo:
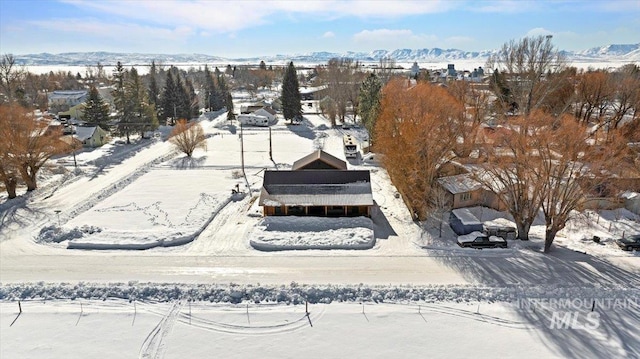
<path id="1" fill-rule="evenodd" d="M 464 255 L 466 251 L 469 255 Z M 553 316 L 566 313 L 575 315 L 572 308 L 517 308 L 517 312 L 528 324 L 535 326 L 540 342 L 566 358 L 607 358 L 612 357 L 611 343 L 618 342 L 626 354 L 617 353 L 620 358 L 640 357 L 640 314 L 637 293 L 640 291 L 640 273 L 620 268 L 602 258 L 553 247 L 544 254 L 541 249 L 521 249 L 513 254 L 505 250 L 496 252 L 458 249 L 456 254 L 436 255 L 434 258 L 453 268 L 472 283 L 491 287 L 516 287 L 535 289 L 548 293 L 549 298 L 586 300 L 591 303 L 597 296 L 602 299 L 624 299 L 621 295 L 635 298 L 632 308 L 596 308 L 599 326 L 595 329 L 552 327 Z M 500 251 L 502 253 L 498 254 Z M 461 255 L 462 253 L 462 255 Z M 495 255 L 494 255 L 495 253 Z M 621 288 L 623 288 L 621 290 Z M 548 290 L 547 290 L 548 289 Z M 558 289 L 556 292 L 555 290 Z M 607 294 L 609 290 L 612 294 Z M 595 293 L 595 294 L 588 294 Z M 617 294 L 616 294 L 617 293 Z M 622 293 L 622 294 L 621 294 Z M 626 294 L 625 294 L 626 293 Z M 636 293 L 636 294 L 634 294 Z M 532 299 L 532 298 L 520 298 Z M 578 308 L 579 324 L 585 325 L 589 308 Z M 555 314 L 554 314 L 555 313 Z M 602 334 L 604 332 L 604 334 Z M 603 339 L 607 338 L 607 339 Z"/>

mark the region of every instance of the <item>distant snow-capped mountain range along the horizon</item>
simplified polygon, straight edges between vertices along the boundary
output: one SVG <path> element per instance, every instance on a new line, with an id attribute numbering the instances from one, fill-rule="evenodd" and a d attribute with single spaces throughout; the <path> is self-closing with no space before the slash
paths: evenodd
<path id="1" fill-rule="evenodd" d="M 118 61 L 124 65 L 148 65 L 151 61 L 159 64 L 228 64 L 228 63 L 325 63 L 332 58 L 352 58 L 360 62 L 379 62 L 391 58 L 396 62 L 448 62 L 454 60 L 485 61 L 498 50 L 464 51 L 458 49 L 397 49 L 393 51 L 375 50 L 372 52 L 310 52 L 293 55 L 275 55 L 247 58 L 224 58 L 203 54 L 140 54 L 114 52 L 66 52 L 58 54 L 40 53 L 14 55 L 20 65 L 76 65 L 94 66 L 115 65 Z M 594 47 L 584 51 L 562 51 L 571 62 L 640 62 L 640 43 Z"/>

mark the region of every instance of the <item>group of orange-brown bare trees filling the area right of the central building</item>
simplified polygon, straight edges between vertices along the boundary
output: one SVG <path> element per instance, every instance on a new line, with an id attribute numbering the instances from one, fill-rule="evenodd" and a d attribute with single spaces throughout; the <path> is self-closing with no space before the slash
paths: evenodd
<path id="1" fill-rule="evenodd" d="M 474 163 L 472 178 L 506 205 L 518 238 L 528 239 L 542 212 L 548 252 L 586 192 L 612 191 L 609 179 L 639 174 L 640 156 L 627 144 L 640 141 L 640 72 L 578 72 L 550 37 L 506 43 L 488 65 L 488 86 L 387 83 L 375 151 L 421 220 L 443 206 L 443 166 Z M 486 141 L 481 127 L 499 131 Z"/>

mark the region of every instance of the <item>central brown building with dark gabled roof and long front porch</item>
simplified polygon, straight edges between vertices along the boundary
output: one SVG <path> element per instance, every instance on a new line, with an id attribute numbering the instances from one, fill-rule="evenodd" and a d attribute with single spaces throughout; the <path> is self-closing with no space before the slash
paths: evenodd
<path id="1" fill-rule="evenodd" d="M 344 161 L 316 151 L 291 171 L 264 172 L 259 205 L 265 216 L 371 216 L 369 171 L 348 171 Z"/>

